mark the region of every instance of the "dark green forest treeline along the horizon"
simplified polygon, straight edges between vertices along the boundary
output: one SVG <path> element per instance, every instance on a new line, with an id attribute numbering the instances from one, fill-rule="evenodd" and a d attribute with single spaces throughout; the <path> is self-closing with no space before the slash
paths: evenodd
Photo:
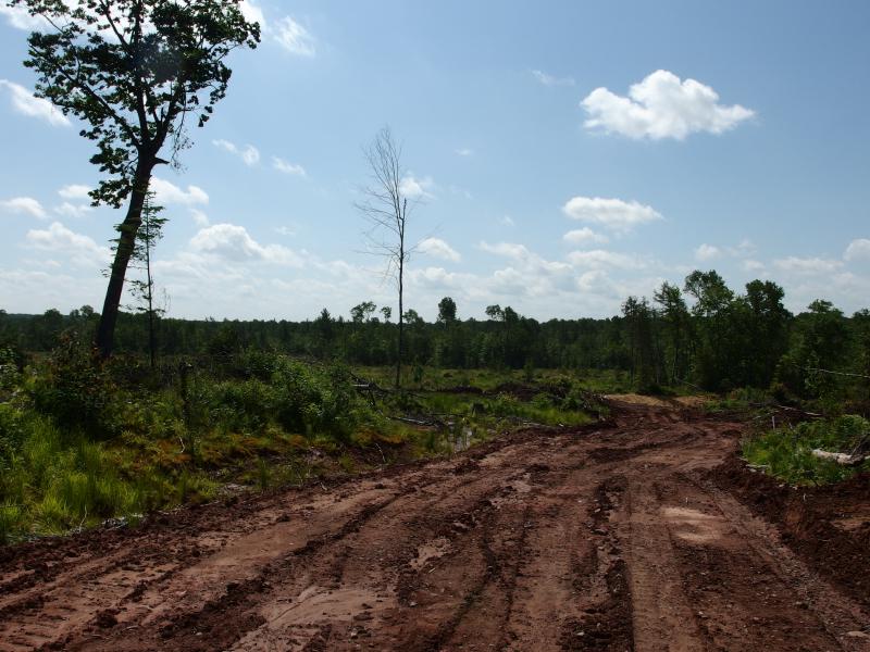
<path id="1" fill-rule="evenodd" d="M 620 315 L 599 319 L 537 322 L 500 305 L 488 306 L 481 318 L 462 318 L 446 297 L 435 322 L 406 311 L 405 361 L 410 367 L 619 369 L 642 389 L 782 386 L 800 398 L 819 398 L 870 376 L 870 311 L 847 316 L 817 300 L 794 315 L 784 297 L 770 280 L 753 280 L 735 291 L 714 271 L 693 272 L 682 287 L 664 283 L 651 298 L 630 297 Z M 396 362 L 391 317 L 388 306 L 378 310 L 363 301 L 348 317 L 324 309 L 304 322 L 161 318 L 157 346 L 164 358 L 259 349 L 390 365 Z M 97 319 L 89 306 L 69 315 L 2 312 L 0 341 L 20 351 L 48 351 L 65 330 L 90 335 Z M 148 315 L 123 313 L 117 352 L 146 353 L 148 343 Z"/>

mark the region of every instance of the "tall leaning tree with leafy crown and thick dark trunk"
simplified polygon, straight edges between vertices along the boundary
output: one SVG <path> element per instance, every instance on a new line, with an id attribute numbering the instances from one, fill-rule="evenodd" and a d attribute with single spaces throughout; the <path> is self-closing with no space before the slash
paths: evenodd
<path id="1" fill-rule="evenodd" d="M 84 123 L 96 141 L 90 162 L 107 176 L 90 196 L 115 209 L 129 198 L 97 329 L 103 356 L 114 329 L 141 211 L 159 164 L 177 165 L 189 146 L 186 117 L 202 126 L 226 93 L 224 63 L 238 47 L 257 47 L 260 26 L 237 0 L 9 0 L 51 29 L 28 38 L 24 62 L 38 75 L 36 96 Z M 160 158 L 169 147 L 169 160 Z"/>

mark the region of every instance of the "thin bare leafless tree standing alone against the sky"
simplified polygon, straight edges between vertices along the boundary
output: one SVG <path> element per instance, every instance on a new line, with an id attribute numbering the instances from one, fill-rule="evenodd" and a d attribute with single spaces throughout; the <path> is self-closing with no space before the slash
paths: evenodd
<path id="1" fill-rule="evenodd" d="M 369 222 L 366 237 L 372 253 L 387 262 L 386 274 L 396 279 L 399 294 L 398 334 L 396 344 L 396 389 L 401 385 L 401 362 L 405 342 L 406 314 L 405 266 L 413 250 L 406 236 L 408 217 L 415 201 L 409 204 L 403 180 L 406 171 L 401 162 L 401 146 L 396 142 L 389 127 L 384 127 L 372 143 L 363 150 L 371 173 L 371 184 L 363 188 L 363 200 L 357 210 Z"/>

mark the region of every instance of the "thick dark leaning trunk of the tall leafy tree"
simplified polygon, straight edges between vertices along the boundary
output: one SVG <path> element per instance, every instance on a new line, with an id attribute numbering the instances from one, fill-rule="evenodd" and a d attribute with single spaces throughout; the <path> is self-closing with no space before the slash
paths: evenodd
<path id="1" fill-rule="evenodd" d="M 142 205 L 148 192 L 148 183 L 151 180 L 152 167 L 153 163 L 139 163 L 133 181 L 127 216 L 121 223 L 115 260 L 112 262 L 109 287 L 105 290 L 105 301 L 100 314 L 100 324 L 97 327 L 97 348 L 103 359 L 112 354 L 115 324 L 117 323 L 117 313 L 121 306 L 121 294 L 124 292 L 124 278 L 136 244 L 136 233 L 142 223 Z"/>

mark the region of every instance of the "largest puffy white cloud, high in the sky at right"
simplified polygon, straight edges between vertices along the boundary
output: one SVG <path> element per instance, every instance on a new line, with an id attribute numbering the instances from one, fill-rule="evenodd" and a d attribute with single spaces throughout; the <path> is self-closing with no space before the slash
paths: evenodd
<path id="1" fill-rule="evenodd" d="M 675 138 L 706 131 L 722 134 L 755 115 L 734 104 L 719 104 L 719 95 L 695 79 L 681 80 L 668 71 L 656 71 L 629 89 L 629 97 L 596 88 L 582 102 L 588 129 L 629 138 Z"/>

